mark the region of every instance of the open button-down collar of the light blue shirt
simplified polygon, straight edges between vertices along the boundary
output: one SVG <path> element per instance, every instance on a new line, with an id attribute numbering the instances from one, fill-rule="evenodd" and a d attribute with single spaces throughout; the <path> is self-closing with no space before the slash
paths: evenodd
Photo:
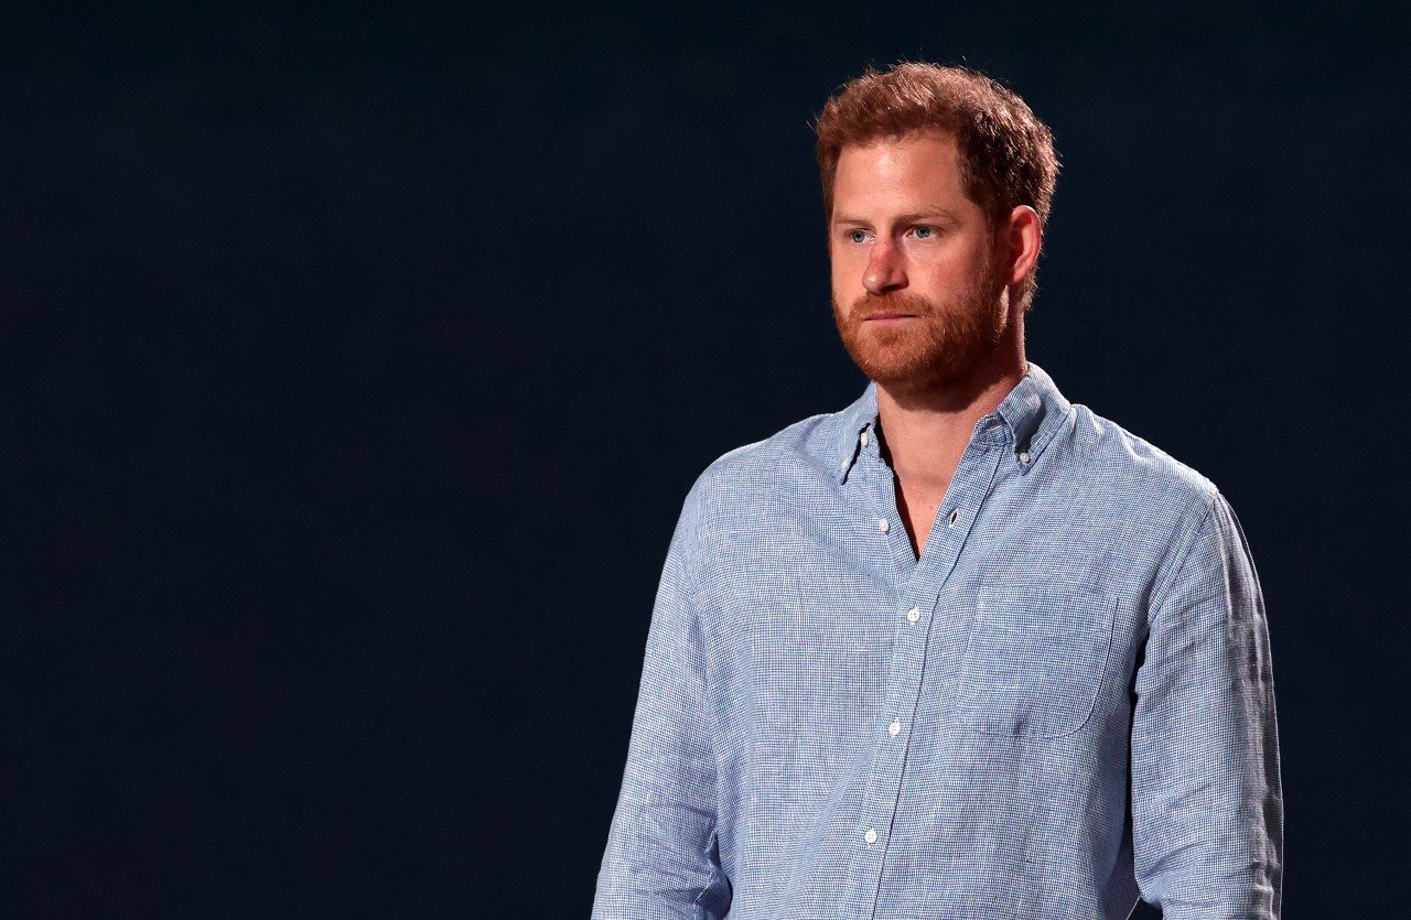
<path id="1" fill-rule="evenodd" d="M 1058 433 L 1072 404 L 1058 392 L 1053 378 L 1033 361 L 1024 377 L 1000 401 L 995 411 L 975 422 L 971 440 L 1003 446 L 1020 473 L 1029 473 L 1044 449 Z M 834 477 L 842 483 L 862 450 L 862 433 L 878 428 L 878 385 L 869 381 L 856 402 L 838 413 L 834 443 Z M 869 437 L 876 450 L 876 439 Z"/>

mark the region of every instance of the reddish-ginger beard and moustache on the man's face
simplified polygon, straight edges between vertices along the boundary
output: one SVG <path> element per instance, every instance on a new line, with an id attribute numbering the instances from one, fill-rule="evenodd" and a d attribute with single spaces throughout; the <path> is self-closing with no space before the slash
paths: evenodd
<path id="1" fill-rule="evenodd" d="M 878 312 L 910 313 L 895 326 L 864 322 Z M 864 293 L 832 320 L 852 361 L 895 395 L 934 392 L 969 377 L 999 347 L 1009 296 L 995 265 L 943 303 L 904 292 Z"/>

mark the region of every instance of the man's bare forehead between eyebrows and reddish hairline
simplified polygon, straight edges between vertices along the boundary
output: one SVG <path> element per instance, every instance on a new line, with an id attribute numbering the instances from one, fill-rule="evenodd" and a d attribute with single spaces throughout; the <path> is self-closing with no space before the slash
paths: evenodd
<path id="1" fill-rule="evenodd" d="M 879 195 L 965 198 L 955 137 L 924 131 L 844 147 L 834 174 L 834 199 Z"/>

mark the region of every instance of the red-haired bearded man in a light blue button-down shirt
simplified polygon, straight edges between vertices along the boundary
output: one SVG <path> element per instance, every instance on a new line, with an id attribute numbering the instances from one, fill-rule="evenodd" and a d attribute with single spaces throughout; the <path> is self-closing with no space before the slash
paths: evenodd
<path id="1" fill-rule="evenodd" d="M 871 382 L 690 490 L 594 917 L 1277 917 L 1245 535 L 1024 357 L 1048 128 L 903 63 L 817 131 Z"/>

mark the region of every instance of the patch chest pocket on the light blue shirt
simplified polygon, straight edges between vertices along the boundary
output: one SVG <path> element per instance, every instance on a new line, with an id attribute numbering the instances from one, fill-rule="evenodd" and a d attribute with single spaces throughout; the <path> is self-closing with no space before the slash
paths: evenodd
<path id="1" fill-rule="evenodd" d="M 999 735 L 1082 728 L 1108 667 L 1116 598 L 1086 587 L 981 587 L 961 663 L 961 720 Z"/>

